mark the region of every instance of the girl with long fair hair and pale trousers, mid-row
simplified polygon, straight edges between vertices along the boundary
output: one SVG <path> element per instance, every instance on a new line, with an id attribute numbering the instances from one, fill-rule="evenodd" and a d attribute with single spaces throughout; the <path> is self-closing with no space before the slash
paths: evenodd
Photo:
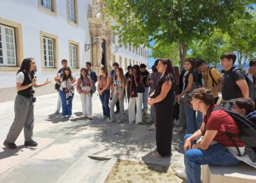
<path id="1" fill-rule="evenodd" d="M 107 122 L 116 121 L 114 116 L 114 106 L 119 101 L 119 120 L 117 123 L 120 123 L 124 120 L 124 90 L 125 90 L 125 79 L 124 79 L 124 71 L 121 67 L 117 68 L 116 70 L 116 77 L 114 78 L 114 82 L 112 84 L 110 99 L 112 98 L 110 104 L 110 120 Z"/>

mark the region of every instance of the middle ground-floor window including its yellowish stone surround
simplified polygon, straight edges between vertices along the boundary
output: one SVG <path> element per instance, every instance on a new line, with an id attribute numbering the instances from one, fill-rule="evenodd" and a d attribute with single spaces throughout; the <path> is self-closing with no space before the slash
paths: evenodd
<path id="1" fill-rule="evenodd" d="M 58 69 L 58 37 L 40 31 L 42 70 L 56 72 Z"/>

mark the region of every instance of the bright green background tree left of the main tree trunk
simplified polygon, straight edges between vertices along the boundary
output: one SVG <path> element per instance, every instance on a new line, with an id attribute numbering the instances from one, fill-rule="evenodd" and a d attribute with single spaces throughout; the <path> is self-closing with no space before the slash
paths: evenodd
<path id="1" fill-rule="evenodd" d="M 179 64 L 179 57 L 178 57 L 178 44 L 177 43 L 171 43 L 171 44 L 165 44 L 161 43 L 161 41 L 156 41 L 156 44 L 151 49 L 151 57 L 154 58 L 169 58 L 172 62 L 172 65 L 178 65 Z"/>

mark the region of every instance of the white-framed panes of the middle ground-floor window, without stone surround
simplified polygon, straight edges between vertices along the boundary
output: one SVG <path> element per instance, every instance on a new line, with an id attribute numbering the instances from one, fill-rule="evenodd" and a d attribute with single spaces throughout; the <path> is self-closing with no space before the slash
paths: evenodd
<path id="1" fill-rule="evenodd" d="M 43 37 L 43 61 L 45 67 L 54 68 L 54 40 L 50 38 Z"/>

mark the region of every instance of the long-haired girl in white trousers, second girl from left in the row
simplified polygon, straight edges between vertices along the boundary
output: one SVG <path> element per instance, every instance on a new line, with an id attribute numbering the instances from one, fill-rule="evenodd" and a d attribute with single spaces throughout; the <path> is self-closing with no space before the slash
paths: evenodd
<path id="1" fill-rule="evenodd" d="M 92 79 L 88 76 L 88 71 L 82 68 L 78 79 L 77 91 L 82 101 L 82 115 L 92 120 Z"/>

